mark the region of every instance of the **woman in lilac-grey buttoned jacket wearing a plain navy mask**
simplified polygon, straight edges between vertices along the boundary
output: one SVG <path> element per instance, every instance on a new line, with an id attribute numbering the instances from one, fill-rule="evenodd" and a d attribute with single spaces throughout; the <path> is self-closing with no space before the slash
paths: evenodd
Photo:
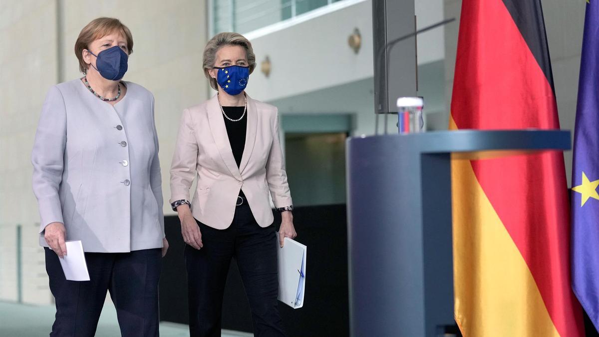
<path id="1" fill-rule="evenodd" d="M 80 79 L 50 88 L 32 151 L 56 320 L 50 336 L 93 336 L 107 291 L 123 336 L 158 336 L 164 235 L 154 98 L 123 81 L 133 38 L 101 17 L 75 42 Z M 69 281 L 60 259 L 80 240 L 89 281 Z M 69 246 L 72 247 L 72 246 Z"/>

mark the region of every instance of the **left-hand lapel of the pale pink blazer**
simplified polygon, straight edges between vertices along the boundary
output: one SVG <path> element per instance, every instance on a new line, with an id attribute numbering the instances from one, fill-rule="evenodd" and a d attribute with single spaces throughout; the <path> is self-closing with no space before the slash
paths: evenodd
<path id="1" fill-rule="evenodd" d="M 229 143 L 229 136 L 226 133 L 225 119 L 223 119 L 222 112 L 220 111 L 218 95 L 210 98 L 207 109 L 210 132 L 212 133 L 216 147 L 219 149 L 220 157 L 225 162 L 227 169 L 231 171 L 231 174 L 241 180 L 241 173 L 237 167 L 237 163 L 235 163 L 231 143 Z"/>

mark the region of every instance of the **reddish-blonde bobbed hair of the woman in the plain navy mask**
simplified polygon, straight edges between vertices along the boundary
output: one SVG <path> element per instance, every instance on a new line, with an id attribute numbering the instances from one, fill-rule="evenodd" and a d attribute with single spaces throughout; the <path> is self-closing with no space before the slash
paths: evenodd
<path id="1" fill-rule="evenodd" d="M 133 37 L 127 26 L 123 25 L 119 19 L 113 17 L 98 17 L 87 23 L 87 26 L 81 29 L 77 41 L 75 41 L 75 56 L 79 60 L 79 70 L 81 73 L 87 73 L 89 65 L 83 61 L 83 50 L 89 49 L 89 44 L 99 38 L 105 37 L 113 32 L 120 32 L 127 40 L 127 49 L 129 55 L 133 52 Z"/>

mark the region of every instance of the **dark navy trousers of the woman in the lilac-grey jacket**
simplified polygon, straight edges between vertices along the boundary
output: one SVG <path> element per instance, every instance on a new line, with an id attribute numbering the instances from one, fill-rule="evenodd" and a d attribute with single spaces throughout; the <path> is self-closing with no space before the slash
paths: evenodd
<path id="1" fill-rule="evenodd" d="M 46 271 L 56 299 L 50 336 L 94 336 L 106 291 L 123 336 L 158 336 L 161 249 L 85 253 L 90 281 L 68 281 L 55 252 L 46 248 Z"/>

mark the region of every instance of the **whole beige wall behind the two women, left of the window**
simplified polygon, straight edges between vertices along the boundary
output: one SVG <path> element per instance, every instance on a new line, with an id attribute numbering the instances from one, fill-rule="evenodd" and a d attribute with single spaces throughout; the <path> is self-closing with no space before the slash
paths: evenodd
<path id="1" fill-rule="evenodd" d="M 46 92 L 81 76 L 75 39 L 99 16 L 118 17 L 132 31 L 134 53 L 125 80 L 155 95 L 166 200 L 181 111 L 207 98 L 201 71 L 208 27 L 205 0 L 0 2 L 0 300 L 18 299 L 17 224 L 23 228 L 23 302 L 52 300 L 37 242 L 39 216 L 29 155 Z M 164 209 L 173 213 L 166 202 Z"/>

